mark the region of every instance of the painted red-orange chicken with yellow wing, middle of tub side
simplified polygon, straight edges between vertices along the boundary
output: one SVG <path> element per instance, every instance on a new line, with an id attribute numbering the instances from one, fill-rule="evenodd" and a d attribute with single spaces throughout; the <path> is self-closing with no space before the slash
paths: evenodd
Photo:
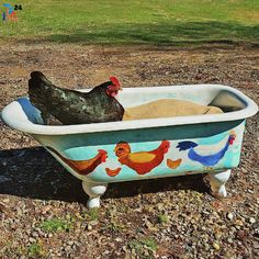
<path id="1" fill-rule="evenodd" d="M 138 174 L 145 174 L 162 162 L 169 147 L 170 143 L 168 140 L 162 140 L 160 146 L 151 151 L 132 153 L 128 143 L 120 142 L 114 151 L 122 165 L 132 168 Z"/>

